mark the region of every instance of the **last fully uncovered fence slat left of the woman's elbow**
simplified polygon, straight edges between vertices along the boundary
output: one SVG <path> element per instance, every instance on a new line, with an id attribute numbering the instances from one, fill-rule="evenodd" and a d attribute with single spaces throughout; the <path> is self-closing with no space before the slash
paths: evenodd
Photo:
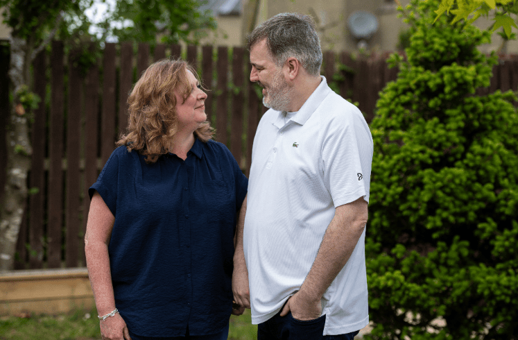
<path id="1" fill-rule="evenodd" d="M 80 135 L 81 135 L 81 82 L 80 70 L 74 67 L 76 53 L 69 56 L 69 92 L 67 117 L 67 189 L 65 210 L 65 263 L 67 267 L 79 265 L 80 242 Z"/>

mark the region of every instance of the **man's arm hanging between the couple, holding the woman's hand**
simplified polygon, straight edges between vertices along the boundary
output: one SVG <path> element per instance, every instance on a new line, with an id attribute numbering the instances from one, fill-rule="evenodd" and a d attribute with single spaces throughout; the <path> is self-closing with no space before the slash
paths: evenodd
<path id="1" fill-rule="evenodd" d="M 232 273 L 232 292 L 234 301 L 244 308 L 250 308 L 250 288 L 248 286 L 248 270 L 246 269 L 245 252 L 243 249 L 243 230 L 245 228 L 246 198 L 243 200 L 239 217 L 237 220 L 235 251 L 234 251 L 234 272 Z"/>

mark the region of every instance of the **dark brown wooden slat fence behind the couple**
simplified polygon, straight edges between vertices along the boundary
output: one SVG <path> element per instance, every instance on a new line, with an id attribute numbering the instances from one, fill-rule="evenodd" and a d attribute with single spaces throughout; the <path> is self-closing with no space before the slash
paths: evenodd
<path id="1" fill-rule="evenodd" d="M 116 138 L 126 128 L 126 99 L 132 85 L 155 60 L 181 56 L 197 67 L 205 87 L 211 89 L 205 106 L 216 128 L 215 139 L 230 148 L 245 174 L 250 169 L 252 141 L 265 108 L 259 87 L 250 83 L 245 49 L 182 49 L 179 45 L 158 44 L 151 51 L 144 43 L 106 43 L 101 58 L 86 69 L 78 65 L 74 56 L 73 52 L 65 53 L 62 42 L 55 41 L 50 53 L 40 53 L 33 65 L 34 89 L 44 99 L 35 110 L 31 134 L 33 155 L 28 187 L 37 189 L 31 190 L 33 194 L 27 201 L 16 269 L 85 266 L 87 189 L 96 181 Z M 344 98 L 359 103 L 368 122 L 374 116 L 379 91 L 397 77 L 397 70 L 386 66 L 386 57 L 324 53 L 322 74 Z M 491 90 L 517 87 L 517 59 L 502 59 L 494 69 Z M 6 98 L 2 89 L 0 96 Z M 7 109 L 1 112 L 0 118 L 6 119 Z M 0 129 L 0 137 L 4 133 Z M 0 141 L 0 156 L 5 155 L 4 141 L 5 137 Z M 5 180 L 2 175 L 1 187 Z"/>

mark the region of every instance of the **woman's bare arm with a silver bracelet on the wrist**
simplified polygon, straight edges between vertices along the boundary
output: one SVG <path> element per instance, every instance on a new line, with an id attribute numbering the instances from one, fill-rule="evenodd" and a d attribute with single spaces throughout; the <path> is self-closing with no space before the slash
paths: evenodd
<path id="1" fill-rule="evenodd" d="M 115 217 L 98 192 L 95 192 L 90 203 L 87 230 L 85 234 L 85 255 L 88 275 L 100 316 L 109 314 L 115 309 L 115 298 L 110 272 L 108 243 L 112 236 Z M 100 321 L 103 340 L 130 340 L 126 323 L 120 314 L 109 316 Z"/>

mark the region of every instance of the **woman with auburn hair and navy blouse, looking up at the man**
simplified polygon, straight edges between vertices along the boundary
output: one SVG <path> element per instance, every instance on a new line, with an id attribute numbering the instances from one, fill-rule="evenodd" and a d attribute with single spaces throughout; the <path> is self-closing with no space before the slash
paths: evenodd
<path id="1" fill-rule="evenodd" d="M 85 253 L 103 339 L 227 339 L 248 180 L 211 139 L 206 98 L 186 62 L 151 65 L 89 189 Z"/>

